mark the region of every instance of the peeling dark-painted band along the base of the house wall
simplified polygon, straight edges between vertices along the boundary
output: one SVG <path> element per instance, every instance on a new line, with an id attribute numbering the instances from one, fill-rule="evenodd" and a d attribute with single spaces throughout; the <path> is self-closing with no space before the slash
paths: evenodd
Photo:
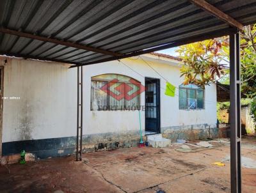
<path id="1" fill-rule="evenodd" d="M 161 128 L 163 137 L 176 141 L 177 139 L 196 140 L 217 138 L 218 128 L 209 125 L 189 125 Z M 143 137 L 144 141 L 146 137 Z M 83 135 L 83 153 L 94 151 L 131 148 L 140 141 L 138 131 L 123 133 L 103 133 Z M 33 153 L 36 158 L 61 157 L 76 153 L 76 136 L 51 139 L 36 139 L 27 141 L 12 141 L 3 143 L 2 155 L 13 155 L 25 150 Z"/>

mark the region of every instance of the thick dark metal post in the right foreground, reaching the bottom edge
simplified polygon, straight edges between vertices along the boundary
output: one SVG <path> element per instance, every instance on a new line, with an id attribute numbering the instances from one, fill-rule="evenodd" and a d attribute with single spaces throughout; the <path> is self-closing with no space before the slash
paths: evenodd
<path id="1" fill-rule="evenodd" d="M 231 192 L 241 193 L 240 36 L 230 35 L 230 180 Z"/>

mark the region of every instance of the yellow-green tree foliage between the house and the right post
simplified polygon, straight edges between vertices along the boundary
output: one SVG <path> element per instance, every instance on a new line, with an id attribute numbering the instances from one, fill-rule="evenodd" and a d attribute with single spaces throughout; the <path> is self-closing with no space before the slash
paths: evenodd
<path id="1" fill-rule="evenodd" d="M 224 75 L 220 50 L 226 44 L 226 40 L 214 39 L 180 46 L 177 52 L 184 62 L 180 69 L 181 76 L 184 76 L 183 84 L 196 84 L 204 88 L 216 81 L 216 75 L 219 78 Z"/>

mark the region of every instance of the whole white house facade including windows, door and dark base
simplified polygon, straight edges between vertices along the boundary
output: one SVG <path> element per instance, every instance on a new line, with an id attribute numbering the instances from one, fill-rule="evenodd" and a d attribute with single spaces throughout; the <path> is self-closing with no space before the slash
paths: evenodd
<path id="1" fill-rule="evenodd" d="M 38 158 L 76 151 L 77 69 L 0 58 L 1 155 Z M 143 135 L 218 137 L 216 85 L 183 86 L 179 59 L 161 54 L 83 67 L 83 152 L 135 146 Z M 165 95 L 166 82 L 175 96 Z M 140 121 L 141 120 L 141 121 Z"/>

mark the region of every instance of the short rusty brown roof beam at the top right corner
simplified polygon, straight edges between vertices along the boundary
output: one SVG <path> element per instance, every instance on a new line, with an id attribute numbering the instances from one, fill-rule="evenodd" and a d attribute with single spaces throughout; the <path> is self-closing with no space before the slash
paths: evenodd
<path id="1" fill-rule="evenodd" d="M 243 30 L 244 26 L 234 18 L 230 17 L 224 12 L 221 12 L 218 8 L 212 6 L 211 4 L 207 3 L 204 0 L 189 0 L 191 3 L 195 4 L 196 6 L 202 8 L 205 10 L 205 12 L 211 13 L 211 15 L 214 15 L 215 17 L 218 17 L 218 19 L 223 20 L 227 24 L 229 24 L 232 27 L 237 27 L 239 30 Z"/>

